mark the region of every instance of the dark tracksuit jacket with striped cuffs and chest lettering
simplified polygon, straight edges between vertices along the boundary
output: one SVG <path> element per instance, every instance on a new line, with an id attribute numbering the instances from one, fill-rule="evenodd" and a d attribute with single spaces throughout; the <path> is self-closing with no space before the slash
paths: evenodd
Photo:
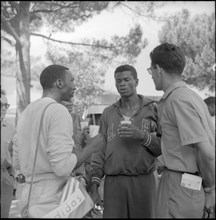
<path id="1" fill-rule="evenodd" d="M 152 173 L 156 167 L 156 157 L 161 154 L 160 137 L 150 131 L 151 123 L 158 124 L 155 101 L 138 95 L 141 108 L 131 117 L 132 123 L 143 131 L 151 132 L 148 146 L 141 141 L 121 138 L 117 129 L 124 120 L 119 111 L 121 99 L 107 107 L 100 121 L 99 133 L 104 134 L 106 145 L 103 150 L 92 155 L 91 183 L 100 184 L 104 175 L 143 175 Z"/>

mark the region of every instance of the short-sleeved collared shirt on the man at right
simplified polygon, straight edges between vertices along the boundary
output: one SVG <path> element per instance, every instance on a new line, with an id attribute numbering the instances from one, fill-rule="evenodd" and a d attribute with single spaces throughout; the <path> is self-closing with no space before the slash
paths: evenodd
<path id="1" fill-rule="evenodd" d="M 214 126 L 204 101 L 184 82 L 171 85 L 158 105 L 162 129 L 159 161 L 171 170 L 198 171 L 196 149 L 199 142 L 215 147 Z"/>

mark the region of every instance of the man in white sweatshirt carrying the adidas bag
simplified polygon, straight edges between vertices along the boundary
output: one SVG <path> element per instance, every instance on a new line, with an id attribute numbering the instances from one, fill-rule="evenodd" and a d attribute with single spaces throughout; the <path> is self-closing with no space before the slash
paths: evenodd
<path id="1" fill-rule="evenodd" d="M 61 104 L 62 101 L 71 100 L 76 89 L 70 70 L 61 65 L 50 65 L 42 71 L 40 83 L 43 88 L 42 98 L 30 103 L 22 112 L 14 139 L 14 166 L 26 179 L 20 198 L 22 217 L 30 217 L 29 210 L 32 215 L 40 218 L 57 208 L 56 201 L 61 197 L 62 188 L 71 172 L 103 146 L 103 136 L 98 134 L 82 151 L 73 152 L 73 122 L 69 111 Z M 45 205 L 46 203 L 52 205 Z"/>

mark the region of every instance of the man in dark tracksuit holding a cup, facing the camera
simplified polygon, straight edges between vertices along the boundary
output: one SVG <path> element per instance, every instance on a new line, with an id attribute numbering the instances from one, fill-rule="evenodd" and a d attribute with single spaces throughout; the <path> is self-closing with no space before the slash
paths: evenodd
<path id="1" fill-rule="evenodd" d="M 161 154 L 157 108 L 153 100 L 137 95 L 134 67 L 118 67 L 115 82 L 121 99 L 101 116 L 99 132 L 105 135 L 106 146 L 92 156 L 90 194 L 100 204 L 97 188 L 105 175 L 104 218 L 152 218 L 153 172 Z"/>

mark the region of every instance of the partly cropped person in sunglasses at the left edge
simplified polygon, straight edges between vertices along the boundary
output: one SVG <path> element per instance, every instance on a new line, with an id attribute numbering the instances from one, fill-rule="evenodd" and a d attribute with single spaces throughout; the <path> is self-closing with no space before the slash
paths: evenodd
<path id="1" fill-rule="evenodd" d="M 1 218 L 8 218 L 14 190 L 12 139 L 15 128 L 5 120 L 9 108 L 5 91 L 1 89 Z"/>

